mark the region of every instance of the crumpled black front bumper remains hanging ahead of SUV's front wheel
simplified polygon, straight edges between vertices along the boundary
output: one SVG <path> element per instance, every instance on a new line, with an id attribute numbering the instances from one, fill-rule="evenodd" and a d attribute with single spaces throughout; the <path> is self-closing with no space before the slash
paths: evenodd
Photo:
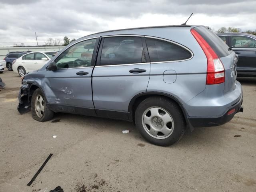
<path id="1" fill-rule="evenodd" d="M 26 88 L 20 88 L 20 92 L 18 95 L 19 105 L 17 106 L 18 112 L 20 114 L 24 114 L 30 111 L 30 99 L 29 92 Z"/>

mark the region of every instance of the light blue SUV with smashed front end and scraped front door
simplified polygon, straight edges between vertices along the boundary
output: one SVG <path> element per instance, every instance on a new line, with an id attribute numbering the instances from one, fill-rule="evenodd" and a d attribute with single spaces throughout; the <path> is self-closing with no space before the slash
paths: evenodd
<path id="1" fill-rule="evenodd" d="M 133 121 L 146 140 L 166 146 L 186 127 L 218 126 L 242 112 L 237 61 L 204 26 L 96 33 L 26 74 L 18 110 L 38 121 L 54 112 Z"/>

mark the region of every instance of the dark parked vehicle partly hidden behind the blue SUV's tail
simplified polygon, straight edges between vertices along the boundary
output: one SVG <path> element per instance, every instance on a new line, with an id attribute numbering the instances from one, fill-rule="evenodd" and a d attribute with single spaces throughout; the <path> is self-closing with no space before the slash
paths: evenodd
<path id="1" fill-rule="evenodd" d="M 256 36 L 247 33 L 217 35 L 238 54 L 237 75 L 256 77 Z"/>

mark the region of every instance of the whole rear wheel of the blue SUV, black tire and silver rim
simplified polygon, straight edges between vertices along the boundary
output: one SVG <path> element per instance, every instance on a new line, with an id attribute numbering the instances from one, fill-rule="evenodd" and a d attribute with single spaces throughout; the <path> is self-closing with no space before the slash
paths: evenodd
<path id="1" fill-rule="evenodd" d="M 183 113 L 174 101 L 154 96 L 142 101 L 135 112 L 135 124 L 148 142 L 169 146 L 185 132 Z"/>

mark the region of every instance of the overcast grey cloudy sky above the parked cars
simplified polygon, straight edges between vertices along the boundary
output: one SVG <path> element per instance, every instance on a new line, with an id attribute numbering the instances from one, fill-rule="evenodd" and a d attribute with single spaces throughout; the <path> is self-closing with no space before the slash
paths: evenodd
<path id="1" fill-rule="evenodd" d="M 0 44 L 35 44 L 140 26 L 202 24 L 256 30 L 256 0 L 0 0 Z"/>

